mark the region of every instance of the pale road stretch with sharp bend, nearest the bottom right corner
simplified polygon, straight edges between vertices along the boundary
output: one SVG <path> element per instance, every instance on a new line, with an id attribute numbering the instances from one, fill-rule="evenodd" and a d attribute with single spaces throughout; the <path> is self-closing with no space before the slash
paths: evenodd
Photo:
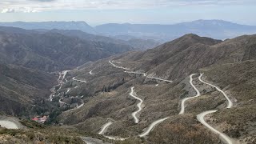
<path id="1" fill-rule="evenodd" d="M 219 132 L 218 130 L 214 129 L 212 126 L 210 126 L 204 119 L 204 117 L 207 114 L 212 114 L 215 113 L 218 110 L 208 110 L 208 111 L 204 111 L 201 114 L 197 115 L 197 119 L 199 122 L 201 122 L 204 126 L 206 126 L 207 128 L 209 128 L 211 131 L 213 131 L 215 134 L 218 134 L 219 137 L 221 137 L 227 144 L 232 144 L 232 139 L 228 136 L 226 136 L 226 134 L 223 134 L 221 132 Z"/>

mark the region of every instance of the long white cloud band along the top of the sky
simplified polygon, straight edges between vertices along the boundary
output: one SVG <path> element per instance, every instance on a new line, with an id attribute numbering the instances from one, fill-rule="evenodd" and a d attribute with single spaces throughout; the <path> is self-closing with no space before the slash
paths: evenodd
<path id="1" fill-rule="evenodd" d="M 172 6 L 224 6 L 256 4 L 254 0 L 2 0 L 2 13 L 50 10 L 122 10 Z"/>

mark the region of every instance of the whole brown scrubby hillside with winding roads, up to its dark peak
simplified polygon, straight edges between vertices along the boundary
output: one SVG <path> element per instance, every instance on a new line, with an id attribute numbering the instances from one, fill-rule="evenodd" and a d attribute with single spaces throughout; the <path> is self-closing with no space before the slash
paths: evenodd
<path id="1" fill-rule="evenodd" d="M 71 70 L 56 98 L 70 104 L 76 96 L 84 104 L 63 112 L 58 120 L 95 134 L 110 122 L 103 135 L 129 138 L 127 142 L 226 143 L 197 119 L 198 114 L 214 110 L 203 117 L 210 126 L 234 143 L 254 143 L 255 38 L 219 41 L 186 34 L 152 50 Z M 185 106 L 184 98 L 189 98 Z M 158 121 L 154 130 L 140 137 Z"/>

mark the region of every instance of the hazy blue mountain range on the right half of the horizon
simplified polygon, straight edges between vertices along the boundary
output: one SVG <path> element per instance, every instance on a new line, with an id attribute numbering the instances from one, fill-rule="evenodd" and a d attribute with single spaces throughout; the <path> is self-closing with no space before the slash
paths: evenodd
<path id="1" fill-rule="evenodd" d="M 198 34 L 217 39 L 234 38 L 242 34 L 255 34 L 256 26 L 239 25 L 222 20 L 197 20 L 173 25 L 110 23 L 95 26 L 95 30 L 105 35 L 131 35 L 166 42 L 184 34 Z"/>

